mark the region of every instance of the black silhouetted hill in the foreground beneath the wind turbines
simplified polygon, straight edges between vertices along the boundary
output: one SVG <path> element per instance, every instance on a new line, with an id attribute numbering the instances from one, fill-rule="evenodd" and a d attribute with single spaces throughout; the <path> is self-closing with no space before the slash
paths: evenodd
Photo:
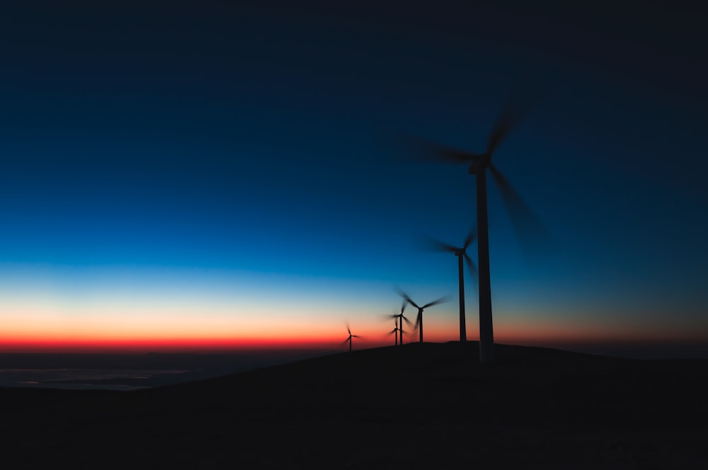
<path id="1" fill-rule="evenodd" d="M 0 389 L 3 468 L 708 469 L 708 361 L 477 343 L 132 392 Z"/>

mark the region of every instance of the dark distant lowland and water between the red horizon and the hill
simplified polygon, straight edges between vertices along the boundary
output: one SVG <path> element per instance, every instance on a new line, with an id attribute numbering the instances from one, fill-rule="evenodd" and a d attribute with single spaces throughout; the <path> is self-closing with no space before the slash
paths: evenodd
<path id="1" fill-rule="evenodd" d="M 530 346 L 639 360 L 708 359 L 706 343 Z M 360 344 L 355 349 L 374 348 L 365 348 Z M 346 352 L 346 348 L 258 348 L 219 352 L 6 352 L 0 353 L 0 387 L 130 391 L 210 379 L 342 352 Z"/>

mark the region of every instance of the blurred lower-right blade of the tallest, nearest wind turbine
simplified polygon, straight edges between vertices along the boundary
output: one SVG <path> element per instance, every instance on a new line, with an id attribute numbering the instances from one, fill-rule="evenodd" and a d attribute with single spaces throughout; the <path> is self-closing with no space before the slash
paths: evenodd
<path id="1" fill-rule="evenodd" d="M 543 226 L 543 223 L 509 183 L 506 176 L 491 163 L 489 164 L 489 171 L 491 171 L 499 187 L 521 248 L 529 255 L 537 251 L 538 248 L 546 248 L 552 245 L 551 236 Z"/>

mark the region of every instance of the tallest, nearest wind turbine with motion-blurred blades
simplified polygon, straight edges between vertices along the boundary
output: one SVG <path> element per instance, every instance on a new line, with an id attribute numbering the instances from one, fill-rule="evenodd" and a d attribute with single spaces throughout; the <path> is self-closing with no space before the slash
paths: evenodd
<path id="1" fill-rule="evenodd" d="M 491 176 L 501 190 L 503 201 L 511 215 L 517 235 L 523 241 L 524 236 L 530 234 L 540 235 L 547 239 L 548 236 L 521 196 L 510 185 L 501 171 L 492 164 L 492 156 L 509 132 L 521 120 L 524 107 L 518 101 L 509 101 L 501 111 L 496 124 L 492 127 L 487 139 L 487 146 L 483 154 L 471 151 L 443 147 L 438 144 L 425 142 L 420 139 L 418 148 L 423 151 L 425 159 L 447 161 L 455 164 L 468 164 L 467 172 L 476 178 L 477 199 L 477 257 L 479 263 L 479 362 L 491 364 L 494 360 L 494 333 L 491 316 L 491 282 L 489 279 L 489 227 L 487 224 L 487 192 L 486 170 L 489 168 Z"/>

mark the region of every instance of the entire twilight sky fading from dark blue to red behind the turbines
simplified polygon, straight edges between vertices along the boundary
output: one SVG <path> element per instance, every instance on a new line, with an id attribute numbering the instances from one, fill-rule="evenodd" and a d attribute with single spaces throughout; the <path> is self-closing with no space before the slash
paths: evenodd
<path id="1" fill-rule="evenodd" d="M 393 137 L 481 151 L 532 88 L 495 162 L 554 244 L 527 256 L 489 183 L 496 340 L 708 356 L 708 33 L 690 5 L 14 3 L 0 350 L 336 345 L 345 319 L 382 344 L 394 285 L 457 294 L 456 258 L 421 237 L 461 243 L 475 217 L 466 168 Z M 457 338 L 452 297 L 426 339 Z"/>

